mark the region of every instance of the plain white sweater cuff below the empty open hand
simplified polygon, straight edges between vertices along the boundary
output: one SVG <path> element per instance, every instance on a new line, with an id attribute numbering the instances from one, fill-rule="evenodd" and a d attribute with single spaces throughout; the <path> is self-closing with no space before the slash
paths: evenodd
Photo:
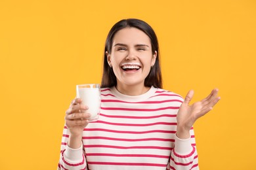
<path id="1" fill-rule="evenodd" d="M 179 139 L 175 134 L 175 152 L 177 154 L 186 155 L 190 154 L 193 150 L 191 145 L 190 138 L 188 139 Z"/>

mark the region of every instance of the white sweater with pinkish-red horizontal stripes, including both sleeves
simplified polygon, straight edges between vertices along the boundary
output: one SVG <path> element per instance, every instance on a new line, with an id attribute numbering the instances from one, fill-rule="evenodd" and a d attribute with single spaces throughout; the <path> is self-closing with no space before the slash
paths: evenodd
<path id="1" fill-rule="evenodd" d="M 177 112 L 183 99 L 150 88 L 139 96 L 101 89 L 100 118 L 83 131 L 81 147 L 68 147 L 64 126 L 58 169 L 199 169 L 194 130 L 179 139 Z"/>

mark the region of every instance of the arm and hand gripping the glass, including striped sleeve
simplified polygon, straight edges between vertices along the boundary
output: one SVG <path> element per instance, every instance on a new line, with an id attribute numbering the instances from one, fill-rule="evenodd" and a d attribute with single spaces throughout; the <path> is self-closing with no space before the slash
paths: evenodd
<path id="1" fill-rule="evenodd" d="M 83 113 L 83 110 L 87 109 L 81 104 L 81 99 L 74 99 L 66 111 L 58 169 L 87 169 L 82 144 L 83 129 L 87 126 L 90 116 Z"/>

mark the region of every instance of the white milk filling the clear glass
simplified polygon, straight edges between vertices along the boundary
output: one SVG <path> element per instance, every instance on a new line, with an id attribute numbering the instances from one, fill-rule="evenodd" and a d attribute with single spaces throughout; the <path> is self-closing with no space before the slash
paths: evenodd
<path id="1" fill-rule="evenodd" d="M 77 97 L 83 100 L 83 105 L 89 107 L 85 112 L 91 114 L 91 119 L 97 118 L 100 111 L 100 91 L 98 88 L 79 88 Z"/>

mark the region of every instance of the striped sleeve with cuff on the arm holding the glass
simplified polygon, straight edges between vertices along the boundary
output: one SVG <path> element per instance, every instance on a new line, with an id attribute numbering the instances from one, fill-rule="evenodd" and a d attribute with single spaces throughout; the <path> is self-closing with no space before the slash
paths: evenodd
<path id="1" fill-rule="evenodd" d="M 58 170 L 66 169 L 83 169 L 87 170 L 87 162 L 83 150 L 83 143 L 81 142 L 80 148 L 72 149 L 68 146 L 68 137 L 70 132 L 66 126 L 64 126 L 62 143 L 60 146 L 60 160 L 58 162 Z"/>

